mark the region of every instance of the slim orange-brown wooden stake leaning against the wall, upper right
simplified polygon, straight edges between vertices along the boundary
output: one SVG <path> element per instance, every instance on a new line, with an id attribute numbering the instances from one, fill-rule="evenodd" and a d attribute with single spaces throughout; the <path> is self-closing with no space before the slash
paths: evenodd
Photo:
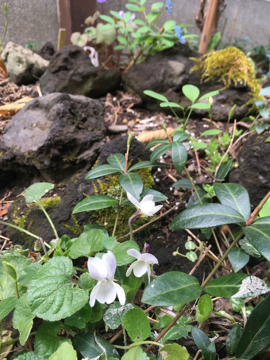
<path id="1" fill-rule="evenodd" d="M 207 51 L 208 42 L 211 36 L 213 22 L 215 20 L 218 0 L 208 0 L 206 7 L 206 14 L 204 17 L 204 24 L 202 30 L 201 41 L 198 53 L 205 54 Z"/>

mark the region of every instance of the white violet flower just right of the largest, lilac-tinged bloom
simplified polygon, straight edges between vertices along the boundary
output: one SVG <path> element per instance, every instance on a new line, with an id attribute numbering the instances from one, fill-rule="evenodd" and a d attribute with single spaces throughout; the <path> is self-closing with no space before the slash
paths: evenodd
<path id="1" fill-rule="evenodd" d="M 132 270 L 137 278 L 140 278 L 147 272 L 148 280 L 150 283 L 150 264 L 158 264 L 156 256 L 148 253 L 141 254 L 138 250 L 135 249 L 127 250 L 127 253 L 131 256 L 136 257 L 136 259 L 138 260 L 132 262 L 130 267 L 127 269 L 126 276 L 129 276 Z"/>

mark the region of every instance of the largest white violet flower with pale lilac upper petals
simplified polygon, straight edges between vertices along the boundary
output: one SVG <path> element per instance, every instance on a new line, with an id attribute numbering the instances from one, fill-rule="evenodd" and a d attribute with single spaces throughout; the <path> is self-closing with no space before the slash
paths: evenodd
<path id="1" fill-rule="evenodd" d="M 116 270 L 116 259 L 111 251 L 108 251 L 102 256 L 90 257 L 87 261 L 87 266 L 90 275 L 93 279 L 98 280 L 90 294 L 90 306 L 95 305 L 98 300 L 101 304 L 112 303 L 116 295 L 121 305 L 125 304 L 126 295 L 120 285 L 114 283 L 114 274 Z"/>

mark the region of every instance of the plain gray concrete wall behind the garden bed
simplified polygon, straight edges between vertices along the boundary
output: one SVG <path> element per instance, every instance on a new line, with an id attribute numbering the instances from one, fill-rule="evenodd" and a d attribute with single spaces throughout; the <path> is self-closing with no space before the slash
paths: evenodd
<path id="1" fill-rule="evenodd" d="M 80 6 L 80 0 L 77 2 Z M 153 2 L 155 1 L 147 1 L 149 5 Z M 27 41 L 37 41 L 42 44 L 52 41 L 56 45 L 58 35 L 56 0 L 0 0 L 0 36 L 2 36 L 5 26 L 4 3 L 9 9 L 9 25 L 5 43 L 9 40 L 21 45 Z M 103 4 L 104 13 L 109 14 L 109 10 L 125 10 L 126 3 L 127 0 L 107 0 Z M 174 19 L 179 24 L 192 24 L 190 32 L 199 34 L 194 21 L 199 0 L 171 0 L 171 3 L 174 4 L 172 14 L 168 15 L 167 12 L 164 12 L 159 19 L 159 24 L 168 19 Z M 235 9 L 238 7 L 233 36 L 244 39 L 248 35 L 251 37 L 250 41 L 253 46 L 258 43 L 269 44 L 270 0 L 226 0 L 226 3 L 227 7 L 219 22 L 219 30 L 221 30 L 225 18 L 228 19 L 223 41 L 228 40 Z M 101 4 L 97 3 L 97 8 L 101 9 Z"/>

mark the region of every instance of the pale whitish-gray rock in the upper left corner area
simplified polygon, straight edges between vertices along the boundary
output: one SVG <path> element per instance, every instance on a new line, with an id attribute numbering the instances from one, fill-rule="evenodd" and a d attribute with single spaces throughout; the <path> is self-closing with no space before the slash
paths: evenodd
<path id="1" fill-rule="evenodd" d="M 1 54 L 11 81 L 17 85 L 33 84 L 47 69 L 49 61 L 9 41 Z"/>

